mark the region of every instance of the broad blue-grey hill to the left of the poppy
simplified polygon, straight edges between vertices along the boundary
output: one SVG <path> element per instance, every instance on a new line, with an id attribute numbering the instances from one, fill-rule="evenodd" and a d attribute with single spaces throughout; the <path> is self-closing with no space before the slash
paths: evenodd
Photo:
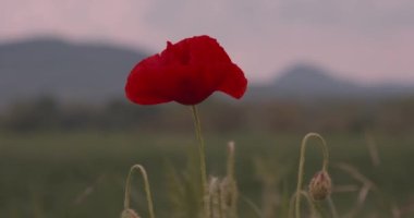
<path id="1" fill-rule="evenodd" d="M 0 45 L 0 106 L 52 95 L 99 102 L 122 96 L 126 75 L 146 52 L 39 38 Z"/>

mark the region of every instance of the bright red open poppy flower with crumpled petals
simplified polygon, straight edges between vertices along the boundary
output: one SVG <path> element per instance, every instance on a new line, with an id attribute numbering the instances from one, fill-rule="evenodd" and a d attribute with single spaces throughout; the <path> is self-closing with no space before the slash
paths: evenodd
<path id="1" fill-rule="evenodd" d="M 167 43 L 161 52 L 141 61 L 131 71 L 126 97 L 139 105 L 176 101 L 196 105 L 220 90 L 241 98 L 247 80 L 224 49 L 209 36 Z"/>

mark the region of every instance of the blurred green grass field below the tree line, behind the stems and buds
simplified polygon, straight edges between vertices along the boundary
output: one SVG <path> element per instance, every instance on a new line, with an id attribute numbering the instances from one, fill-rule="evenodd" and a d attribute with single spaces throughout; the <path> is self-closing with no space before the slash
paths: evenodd
<path id="1" fill-rule="evenodd" d="M 324 134 L 330 147 L 333 202 L 341 215 L 355 209 L 363 184 L 338 164 L 375 183 L 355 217 L 413 217 L 414 135 L 372 133 Z M 236 179 L 241 217 L 255 217 L 246 198 L 264 216 L 281 217 L 296 185 L 300 144 L 304 134 L 226 133 L 205 135 L 208 173 L 223 175 L 227 143 L 236 145 Z M 379 165 L 367 144 L 375 145 Z M 173 217 L 171 169 L 191 174 L 196 141 L 193 133 L 33 132 L 0 133 L 0 217 L 119 217 L 124 183 L 134 164 L 146 167 L 158 217 Z M 305 183 L 320 168 L 317 146 L 308 147 Z M 194 173 L 194 170 L 193 170 Z M 354 173 L 355 175 L 355 173 Z M 176 181 L 175 181 L 176 183 Z M 147 217 L 141 179 L 134 179 L 132 202 Z M 138 190 L 139 187 L 139 190 Z M 356 189 L 356 190 L 353 190 Z M 361 196 L 360 196 L 361 197 Z"/>

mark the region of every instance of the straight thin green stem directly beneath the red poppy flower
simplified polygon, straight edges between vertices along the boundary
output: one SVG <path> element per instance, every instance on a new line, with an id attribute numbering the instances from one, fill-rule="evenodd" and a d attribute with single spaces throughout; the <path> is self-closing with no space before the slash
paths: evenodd
<path id="1" fill-rule="evenodd" d="M 194 120 L 194 128 L 196 137 L 198 141 L 198 155 L 199 155 L 199 171 L 202 177 L 202 191 L 203 191 L 203 205 L 204 205 L 204 215 L 205 218 L 209 217 L 209 209 L 208 209 L 208 202 L 206 201 L 208 198 L 208 191 L 207 191 L 207 167 L 206 167 L 206 155 L 205 155 L 205 145 L 204 140 L 202 135 L 202 123 L 199 120 L 198 109 L 196 106 L 191 107 L 193 111 L 193 120 Z"/>

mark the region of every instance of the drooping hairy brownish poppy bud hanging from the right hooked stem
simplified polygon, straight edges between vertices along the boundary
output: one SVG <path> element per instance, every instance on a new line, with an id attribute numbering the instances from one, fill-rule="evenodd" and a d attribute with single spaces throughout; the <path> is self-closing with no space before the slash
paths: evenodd
<path id="1" fill-rule="evenodd" d="M 332 182 L 326 170 L 317 172 L 309 183 L 309 194 L 313 199 L 321 201 L 332 192 Z"/>

